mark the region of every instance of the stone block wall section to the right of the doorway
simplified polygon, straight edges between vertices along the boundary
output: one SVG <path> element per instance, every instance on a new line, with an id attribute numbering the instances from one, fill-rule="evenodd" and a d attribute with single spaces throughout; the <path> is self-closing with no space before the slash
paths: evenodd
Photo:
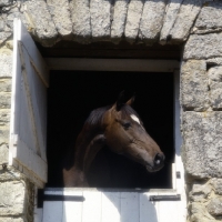
<path id="1" fill-rule="evenodd" d="M 183 162 L 190 221 L 222 220 L 222 2 L 205 2 L 181 69 Z"/>

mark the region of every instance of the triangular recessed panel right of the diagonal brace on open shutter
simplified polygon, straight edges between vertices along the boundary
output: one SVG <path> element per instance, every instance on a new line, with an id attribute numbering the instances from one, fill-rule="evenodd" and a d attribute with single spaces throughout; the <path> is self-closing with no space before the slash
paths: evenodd
<path id="1" fill-rule="evenodd" d="M 20 42 L 19 52 L 23 67 L 23 85 L 26 90 L 28 111 L 31 118 L 37 152 L 44 161 L 47 161 L 47 89 L 44 84 L 42 84 L 42 81 L 37 74 L 34 68 L 31 65 L 30 57 L 27 50 Z"/>

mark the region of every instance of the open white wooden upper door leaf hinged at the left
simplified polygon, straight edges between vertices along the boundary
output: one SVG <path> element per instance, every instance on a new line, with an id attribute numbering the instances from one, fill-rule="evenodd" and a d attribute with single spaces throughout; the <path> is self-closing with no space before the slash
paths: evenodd
<path id="1" fill-rule="evenodd" d="M 49 72 L 33 40 L 17 19 L 13 47 L 9 164 L 42 188 L 47 182 Z"/>

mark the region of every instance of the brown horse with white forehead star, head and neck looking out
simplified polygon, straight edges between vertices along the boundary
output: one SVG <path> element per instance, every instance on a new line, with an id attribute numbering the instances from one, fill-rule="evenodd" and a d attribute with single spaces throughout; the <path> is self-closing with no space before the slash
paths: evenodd
<path id="1" fill-rule="evenodd" d="M 89 186 L 87 173 L 104 145 L 117 154 L 141 163 L 149 172 L 163 168 L 164 154 L 145 131 L 132 108 L 133 102 L 134 95 L 124 102 L 124 92 L 121 92 L 114 104 L 90 113 L 77 138 L 75 148 L 67 157 L 62 170 L 64 186 Z"/>

